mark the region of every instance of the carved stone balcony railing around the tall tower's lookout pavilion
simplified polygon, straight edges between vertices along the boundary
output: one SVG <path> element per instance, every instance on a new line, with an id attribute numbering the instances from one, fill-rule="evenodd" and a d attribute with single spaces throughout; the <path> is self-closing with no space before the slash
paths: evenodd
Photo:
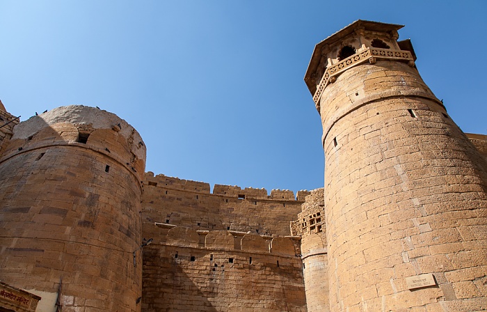
<path id="1" fill-rule="evenodd" d="M 328 84 L 333 84 L 333 82 L 337 80 L 337 77 L 340 76 L 342 72 L 367 61 L 374 64 L 378 60 L 406 61 L 410 66 L 414 66 L 415 64 L 413 55 L 409 51 L 367 47 L 366 49 L 353 54 L 352 56 L 349 56 L 326 69 L 321 81 L 319 82 L 317 91 L 313 96 L 314 104 L 316 105 L 317 110 L 319 111 L 319 100 L 321 99 L 321 95 L 323 94 L 326 86 L 328 86 Z"/>

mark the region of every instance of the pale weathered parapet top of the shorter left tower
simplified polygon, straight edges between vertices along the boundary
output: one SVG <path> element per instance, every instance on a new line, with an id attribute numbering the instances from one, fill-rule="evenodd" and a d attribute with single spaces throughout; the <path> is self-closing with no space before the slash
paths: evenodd
<path id="1" fill-rule="evenodd" d="M 145 144 L 138 132 L 115 114 L 94 107 L 58 107 L 19 123 L 3 158 L 46 146 L 79 146 L 116 159 L 142 180 Z"/>

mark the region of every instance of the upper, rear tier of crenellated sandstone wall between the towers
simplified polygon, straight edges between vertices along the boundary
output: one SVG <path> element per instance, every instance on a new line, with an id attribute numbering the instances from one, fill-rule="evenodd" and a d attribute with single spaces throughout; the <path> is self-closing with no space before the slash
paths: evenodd
<path id="1" fill-rule="evenodd" d="M 297 198 L 289 190 L 241 189 L 145 174 L 143 181 L 143 237 L 159 235 L 154 223 L 185 226 L 194 230 L 251 232 L 259 235 L 291 235 L 289 222 L 301 212 L 307 191 Z"/>

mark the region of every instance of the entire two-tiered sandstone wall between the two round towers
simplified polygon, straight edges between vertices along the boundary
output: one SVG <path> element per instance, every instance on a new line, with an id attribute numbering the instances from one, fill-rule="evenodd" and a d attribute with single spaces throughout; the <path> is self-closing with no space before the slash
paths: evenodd
<path id="1" fill-rule="evenodd" d="M 309 192 L 153 173 L 143 188 L 143 311 L 306 311 L 289 222 Z"/>

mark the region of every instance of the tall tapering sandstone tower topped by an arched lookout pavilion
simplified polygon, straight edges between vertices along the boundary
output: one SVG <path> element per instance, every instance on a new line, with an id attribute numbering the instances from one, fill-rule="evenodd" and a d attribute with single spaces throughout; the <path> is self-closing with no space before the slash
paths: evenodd
<path id="1" fill-rule="evenodd" d="M 487 164 L 401 27 L 358 20 L 305 75 L 324 133 L 330 310 L 487 309 Z"/>

